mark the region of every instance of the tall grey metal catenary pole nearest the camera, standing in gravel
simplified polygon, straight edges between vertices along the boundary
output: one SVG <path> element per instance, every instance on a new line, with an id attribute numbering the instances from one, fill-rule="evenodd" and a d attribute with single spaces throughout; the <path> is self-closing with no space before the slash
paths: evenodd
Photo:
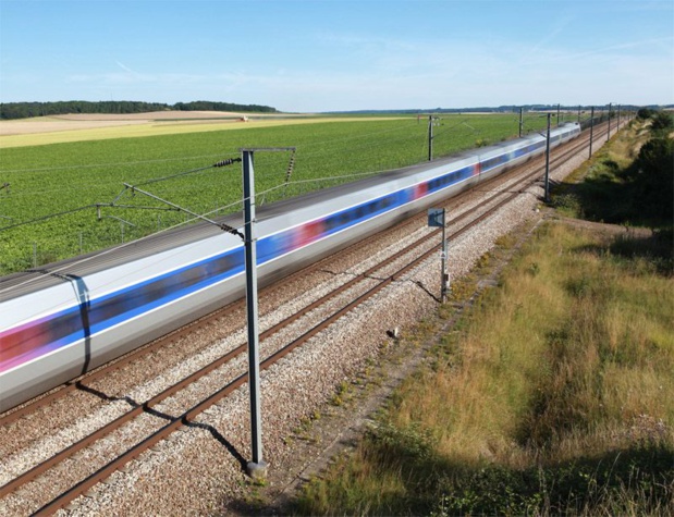
<path id="1" fill-rule="evenodd" d="M 244 175 L 244 243 L 246 264 L 246 309 L 248 319 L 248 386 L 250 389 L 250 441 L 253 460 L 248 476 L 265 478 L 267 464 L 262 460 L 262 421 L 260 413 L 260 354 L 257 330 L 257 235 L 255 227 L 255 177 L 253 151 L 243 152 Z"/>

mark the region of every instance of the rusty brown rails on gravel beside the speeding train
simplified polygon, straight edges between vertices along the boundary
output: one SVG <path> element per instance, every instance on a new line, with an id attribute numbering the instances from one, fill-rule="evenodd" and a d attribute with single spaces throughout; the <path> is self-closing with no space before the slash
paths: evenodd
<path id="1" fill-rule="evenodd" d="M 604 133 L 605 134 L 605 133 Z M 597 135 L 599 138 L 601 135 Z M 551 169 L 559 167 L 572 156 L 576 156 L 579 149 L 587 147 L 587 138 L 581 136 L 580 138 L 573 140 L 567 146 L 561 148 L 553 161 L 551 162 Z M 526 187 L 531 183 L 538 181 L 541 175 L 540 163 L 536 161 L 528 162 L 525 165 L 528 172 L 519 173 L 515 177 L 508 175 L 508 177 L 499 176 L 490 183 L 485 183 L 478 186 L 480 190 L 489 192 L 485 199 L 473 205 L 469 209 L 461 211 L 462 204 L 467 201 L 462 198 L 454 198 L 449 204 L 451 210 L 457 212 L 457 216 L 453 218 L 450 223 L 450 239 L 458 238 L 462 234 L 479 224 L 485 219 L 489 218 L 501 207 L 506 205 L 513 198 L 520 196 Z M 532 169 L 532 170 L 531 170 Z M 522 170 L 522 168 L 518 168 Z M 478 216 L 469 221 L 475 213 Z M 414 218 L 410 221 L 404 223 L 405 231 L 410 227 L 419 226 L 419 221 L 425 220 L 424 216 Z M 384 241 L 391 238 L 389 236 L 394 235 L 397 230 L 390 230 L 381 237 Z M 316 297 L 311 303 L 303 306 L 299 310 L 294 311 L 290 317 L 282 319 L 275 324 L 269 325 L 260 335 L 260 343 L 262 346 L 262 353 L 266 354 L 266 359 L 261 362 L 261 369 L 267 369 L 277 364 L 281 358 L 287 356 L 292 350 L 302 346 L 311 337 L 333 324 L 344 315 L 351 312 L 355 307 L 371 299 L 383 288 L 391 283 L 401 281 L 414 268 L 417 268 L 420 263 L 427 260 L 439 248 L 439 231 L 426 230 L 421 232 L 422 235 L 409 239 L 409 243 L 393 254 L 389 254 L 382 260 L 378 260 L 377 263 L 365 268 L 356 273 L 353 273 L 353 278 L 346 282 L 335 282 L 334 288 L 330 292 Z M 355 257 L 359 248 L 347 248 L 345 255 L 350 254 Z M 357 260 L 357 258 L 355 259 Z M 321 261 L 319 264 L 313 267 L 313 274 L 324 275 L 326 261 Z M 306 272 L 304 273 L 306 274 Z M 334 275 L 328 273 L 334 280 Z M 297 275 L 294 275 L 294 280 L 297 281 Z M 280 286 L 272 287 L 269 292 L 283 292 L 286 288 L 286 284 L 282 283 Z M 265 296 L 265 295 L 262 295 Z M 342 299 L 339 308 L 333 309 L 335 298 Z M 260 298 L 264 299 L 264 298 Z M 241 307 L 229 307 L 230 312 L 241 310 Z M 204 329 L 204 325 L 213 325 L 215 322 L 224 318 L 222 312 L 211 315 L 210 317 L 199 320 L 198 325 L 191 327 L 187 330 L 182 330 L 174 334 L 171 334 L 167 340 L 176 342 L 184 338 L 188 333 L 195 332 L 195 329 Z M 296 325 L 299 321 L 306 320 L 301 330 L 291 332 L 293 325 Z M 243 329 L 238 334 L 243 335 Z M 281 334 L 287 334 L 282 344 L 269 344 Z M 275 337 L 274 337 L 275 336 Z M 272 338 L 273 337 L 273 338 Z M 143 354 L 147 357 L 148 354 L 156 353 L 162 346 L 166 346 L 166 341 L 159 341 L 152 346 L 145 347 L 143 352 L 131 354 L 123 359 L 117 361 L 111 368 L 115 371 L 122 369 L 124 366 L 140 360 Z M 56 491 L 58 494 L 44 494 L 47 500 L 46 503 L 36 502 L 34 507 L 30 507 L 30 512 L 37 512 L 38 514 L 50 514 L 66 506 L 76 496 L 86 493 L 91 487 L 105 480 L 112 472 L 121 469 L 132 459 L 138 457 L 143 452 L 155 446 L 161 440 L 167 439 L 176 429 L 191 426 L 195 423 L 195 418 L 203 411 L 210 408 L 213 404 L 217 404 L 222 398 L 232 394 L 238 387 L 247 382 L 247 372 L 244 364 L 244 354 L 246 350 L 245 343 L 241 342 L 236 346 L 233 346 L 224 355 L 220 355 L 217 359 L 208 362 L 207 365 L 198 368 L 192 374 L 183 378 L 180 382 L 172 383 L 168 387 L 161 390 L 154 396 L 148 397 L 142 402 L 137 402 L 131 396 L 109 395 L 103 391 L 91 387 L 98 379 L 103 379 L 111 374 L 112 370 L 100 369 L 91 376 L 85 377 L 77 381 L 73 381 L 64 386 L 62 390 L 42 397 L 39 403 L 35 405 L 26 406 L 28 409 L 21 409 L 12 411 L 3 417 L 0 421 L 2 427 L 11 427 L 11 424 L 21 421 L 22 419 L 28 419 L 30 416 L 36 416 L 40 413 L 39 409 L 47 407 L 50 404 L 54 404 L 59 397 L 64 397 L 69 392 L 84 391 L 95 395 L 98 398 L 106 399 L 108 402 L 117 402 L 130 407 L 128 410 L 115 416 L 108 423 L 97 428 L 85 436 L 74 441 L 70 445 L 63 447 L 56 454 L 49 455 L 48 458 L 36 461 L 29 469 L 25 469 L 23 472 L 12 477 L 12 479 L 4 483 L 0 488 L 0 497 L 8 497 L 15 492 L 26 492 L 29 490 L 29 484 L 34 483 L 40 477 L 45 476 L 51 470 L 64 470 L 64 463 L 72 463 L 73 459 L 86 454 L 87 448 L 94 447 L 97 443 L 103 440 L 106 436 L 111 436 L 125 426 L 133 424 L 137 419 L 154 420 L 152 426 L 146 426 L 150 431 L 146 431 L 144 438 L 134 440 L 135 443 L 123 447 L 123 451 L 111 454 L 110 460 L 102 461 L 102 464 L 89 465 L 89 472 L 85 476 L 81 476 L 79 479 L 71 480 L 66 488 L 59 487 Z M 229 365 L 229 366 L 228 366 Z M 236 365 L 236 368 L 232 368 L 232 365 Z M 180 398 L 180 394 L 188 392 L 191 386 L 195 383 L 203 382 L 206 376 L 212 376 L 220 369 L 228 368 L 225 374 L 221 374 L 216 384 L 221 387 L 211 392 L 207 397 L 194 397 L 185 396 L 184 401 L 174 401 L 175 397 Z M 41 404 L 41 405 L 38 405 Z M 119 406 L 120 404 L 118 404 Z M 77 456 L 78 455 L 78 456 Z M 74 461 L 77 461 L 75 459 Z M 52 491 L 53 492 L 53 491 Z M 44 497 L 44 498 L 45 498 Z"/>

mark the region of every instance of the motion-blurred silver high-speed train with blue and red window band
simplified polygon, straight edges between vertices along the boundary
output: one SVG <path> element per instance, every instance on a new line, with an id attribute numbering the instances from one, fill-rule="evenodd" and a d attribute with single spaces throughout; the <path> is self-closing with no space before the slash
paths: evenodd
<path id="1" fill-rule="evenodd" d="M 580 133 L 551 131 L 551 146 Z M 260 284 L 544 152 L 538 134 L 259 208 Z M 241 226 L 240 218 L 224 220 Z M 0 279 L 0 411 L 244 295 L 241 237 L 211 224 Z"/>

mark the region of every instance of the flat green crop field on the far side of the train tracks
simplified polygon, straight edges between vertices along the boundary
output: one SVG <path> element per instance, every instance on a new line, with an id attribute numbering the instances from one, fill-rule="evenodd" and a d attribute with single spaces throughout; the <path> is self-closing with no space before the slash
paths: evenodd
<path id="1" fill-rule="evenodd" d="M 441 157 L 517 136 L 518 115 L 442 115 L 433 127 L 433 156 Z M 525 130 L 542 130 L 546 119 L 529 115 Z M 270 202 L 353 181 L 363 174 L 422 162 L 428 156 L 428 120 L 416 115 L 379 120 L 345 119 L 269 127 L 182 133 L 36 145 L 0 150 L 0 274 L 128 242 L 184 223 L 187 217 L 159 210 L 146 196 L 118 199 L 131 209 L 95 207 L 59 217 L 51 214 L 96 204 L 110 204 L 123 183 L 139 185 L 226 158 L 240 148 L 296 147 L 287 188 L 290 153 L 256 152 L 258 201 Z M 145 189 L 197 213 L 241 210 L 241 165 L 147 184 Z M 271 190 L 270 190 L 271 189 Z M 270 190 L 264 194 L 266 190 Z M 229 207 L 223 209 L 222 207 Z M 32 222 L 47 218 L 38 222 Z"/>

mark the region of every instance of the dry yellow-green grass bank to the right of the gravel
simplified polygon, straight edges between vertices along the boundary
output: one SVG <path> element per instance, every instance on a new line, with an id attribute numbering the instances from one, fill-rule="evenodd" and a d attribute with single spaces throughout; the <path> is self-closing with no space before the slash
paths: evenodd
<path id="1" fill-rule="evenodd" d="M 647 241 L 541 226 L 296 512 L 674 513 L 672 247 Z"/>

